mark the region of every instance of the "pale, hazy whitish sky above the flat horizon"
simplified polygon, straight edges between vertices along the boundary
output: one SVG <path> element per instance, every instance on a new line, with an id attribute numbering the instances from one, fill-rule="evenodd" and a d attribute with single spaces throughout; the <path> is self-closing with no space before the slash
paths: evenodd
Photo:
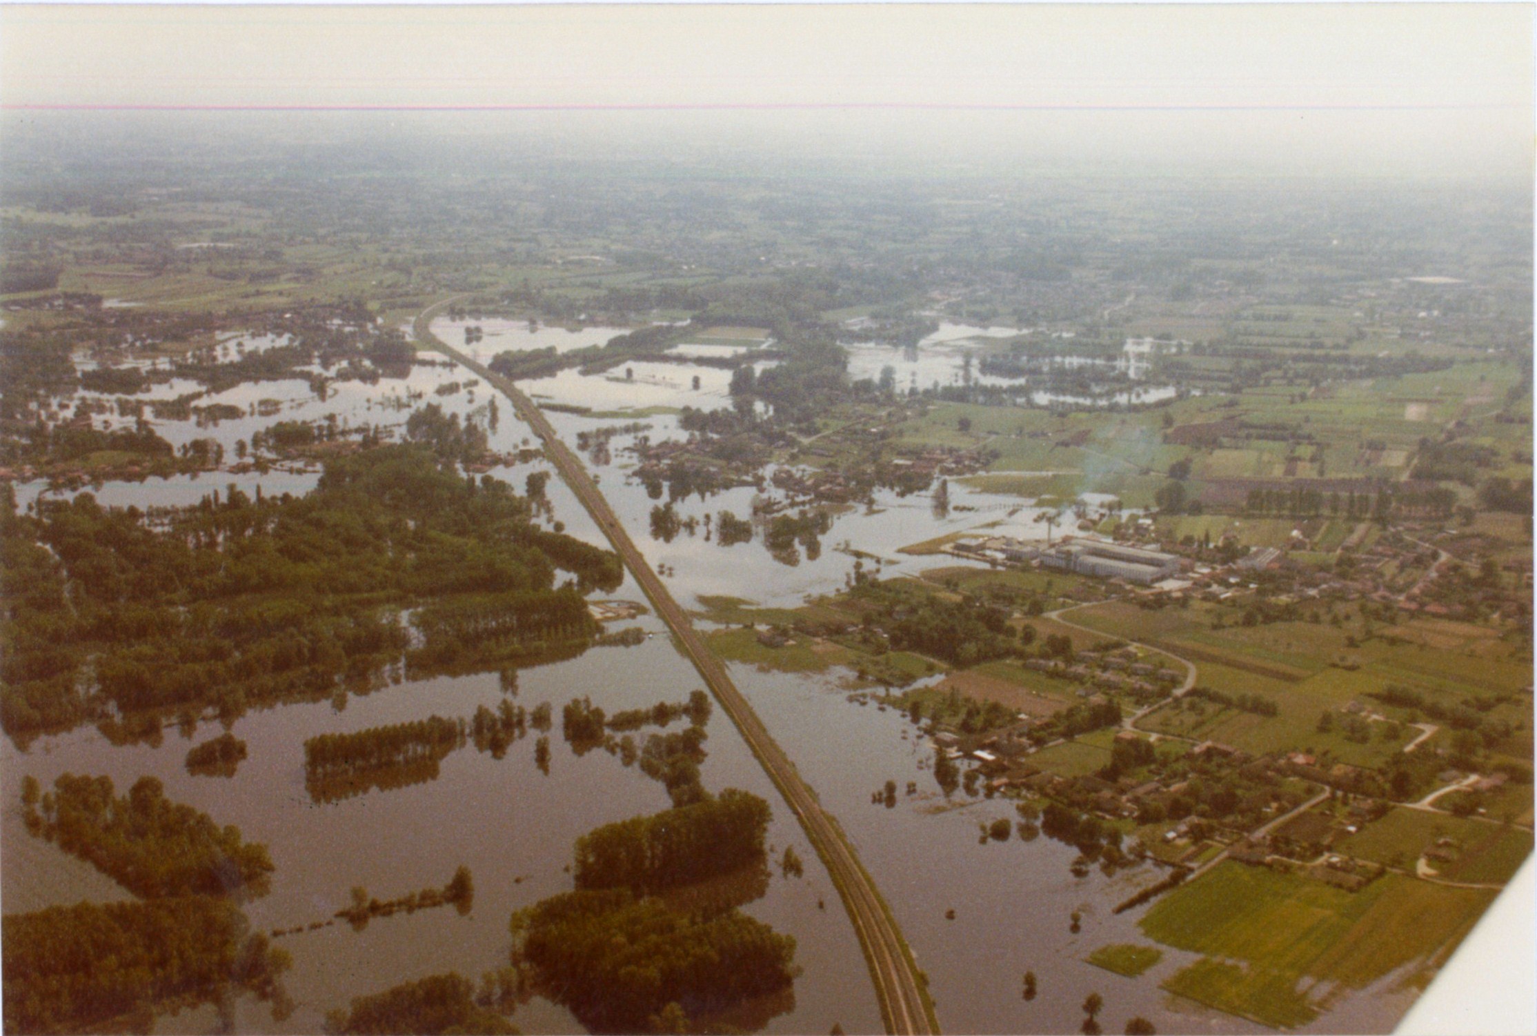
<path id="1" fill-rule="evenodd" d="M 1525 177 L 1532 78 L 1514 3 L 0 6 L 12 111 L 719 106 L 875 148 Z"/>

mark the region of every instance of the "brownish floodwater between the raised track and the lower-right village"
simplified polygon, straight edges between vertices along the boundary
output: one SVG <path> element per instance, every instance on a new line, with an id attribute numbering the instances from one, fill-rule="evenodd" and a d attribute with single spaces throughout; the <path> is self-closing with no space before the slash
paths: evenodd
<path id="1" fill-rule="evenodd" d="M 1265 1031 L 1242 1019 L 1173 1001 L 1157 982 L 1196 959 L 1165 948 L 1150 975 L 1127 979 L 1085 964 L 1093 950 L 1114 942 L 1148 944 L 1136 928 L 1147 910 L 1111 913 L 1114 904 L 1160 878 L 1139 865 L 1105 878 L 1091 870 L 1074 878 L 1077 850 L 1044 835 L 1031 842 L 978 841 L 979 824 L 1014 819 L 1008 799 L 950 799 L 939 793 L 933 747 L 905 715 L 876 704 L 851 704 L 827 676 L 758 672 L 733 666 L 732 676 L 796 767 L 839 818 L 865 870 L 875 878 L 918 959 L 928 973 L 939 1022 L 956 1033 L 1067 1033 L 1082 1022 L 1088 993 L 1105 998 L 1100 1024 L 1120 1031 L 1142 1014 L 1159 1031 Z M 908 781 L 916 796 L 895 809 L 871 804 L 870 793 Z M 945 911 L 954 910 L 954 919 Z M 1070 915 L 1082 930 L 1070 931 Z M 1021 996 L 1022 975 L 1037 978 L 1037 996 Z"/>

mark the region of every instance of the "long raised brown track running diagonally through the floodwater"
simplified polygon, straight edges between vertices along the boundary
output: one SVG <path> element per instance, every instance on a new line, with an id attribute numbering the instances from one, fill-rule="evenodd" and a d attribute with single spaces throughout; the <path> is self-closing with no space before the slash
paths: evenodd
<path id="1" fill-rule="evenodd" d="M 609 543 L 613 544 L 613 549 L 619 552 L 630 572 L 635 573 L 636 583 L 641 584 L 646 596 L 650 598 L 656 613 L 678 636 L 695 669 L 699 670 L 704 682 L 715 693 L 716 701 L 721 702 L 721 707 L 736 724 L 736 729 L 741 730 L 747 745 L 758 756 L 764 770 L 768 772 L 784 801 L 795 812 L 796 819 L 801 821 L 801 827 L 805 828 L 812 845 L 827 865 L 827 872 L 844 899 L 844 907 L 848 910 L 848 918 L 853 921 L 855 933 L 859 936 L 865 961 L 870 965 L 870 978 L 875 981 L 885 1030 L 888 1033 L 938 1033 L 939 1025 L 933 1014 L 933 1005 L 924 993 L 922 979 L 919 979 L 911 951 L 902 939 L 896 921 L 885 908 L 881 893 L 876 890 L 870 875 L 859 864 L 859 858 L 844 838 L 838 822 L 818 804 L 816 795 L 801 779 L 795 764 L 790 762 L 790 758 L 768 735 L 767 727 L 764 727 L 752 706 L 747 704 L 736 684 L 732 682 L 721 661 L 704 644 L 704 639 L 693 629 L 689 615 L 678 606 L 672 593 L 667 592 L 667 587 L 656 578 L 656 573 L 652 572 L 652 567 L 635 547 L 624 526 L 619 524 L 613 509 L 609 507 L 609 501 L 598 492 L 598 486 L 587 475 L 576 455 L 561 443 L 555 427 L 539 407 L 520 392 L 512 381 L 492 374 L 486 366 L 432 335 L 432 318 L 449 301 L 453 300 L 424 309 L 417 317 L 413 324 L 417 341 L 438 349 L 483 377 L 512 401 L 518 417 L 539 437 L 550 463 L 561 472 L 572 492 L 576 493 L 576 498 L 581 500 L 593 521 L 598 523 L 598 527 L 609 538 Z"/>

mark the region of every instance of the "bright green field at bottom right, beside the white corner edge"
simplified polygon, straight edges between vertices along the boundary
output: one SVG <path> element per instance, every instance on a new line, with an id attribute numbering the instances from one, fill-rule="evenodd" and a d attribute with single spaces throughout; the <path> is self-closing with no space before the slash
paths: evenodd
<path id="1" fill-rule="evenodd" d="M 1294 1027 L 1317 1016 L 1314 987 L 1322 998 L 1330 984 L 1365 988 L 1405 965 L 1439 967 L 1492 898 L 1391 873 L 1349 893 L 1225 862 L 1159 899 L 1140 927 L 1157 942 L 1208 958 L 1164 988 Z"/>

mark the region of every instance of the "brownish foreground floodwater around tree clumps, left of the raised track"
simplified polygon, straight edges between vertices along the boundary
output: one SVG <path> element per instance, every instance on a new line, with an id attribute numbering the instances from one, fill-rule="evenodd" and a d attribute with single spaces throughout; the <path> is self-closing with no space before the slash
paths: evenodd
<path id="1" fill-rule="evenodd" d="M 639 598 L 627 584 L 619 596 Z M 647 632 L 661 623 L 647 616 Z M 158 776 L 166 793 L 207 812 L 220 824 L 237 824 L 247 839 L 267 844 L 277 867 L 272 893 L 246 905 L 257 930 L 326 921 L 363 885 L 386 899 L 424 887 L 441 887 L 464 864 L 475 876 L 475 904 L 467 916 L 453 908 L 375 918 L 363 931 L 344 922 L 280 941 L 294 955 L 286 978 L 300 1010 L 274 1025 L 263 1011 L 247 1011 L 251 1031 L 320 1031 L 326 1010 L 397 982 L 446 970 L 478 978 L 506 962 L 513 910 L 567 892 L 564 870 L 572 844 L 592 827 L 667 809 L 659 782 L 636 767 L 626 769 L 603 750 L 576 758 L 559 735 L 561 707 L 575 696 L 613 713 L 679 701 L 701 681 L 676 653 L 670 638 L 652 636 L 639 647 L 593 649 L 555 666 L 524 669 L 516 701 L 530 709 L 550 702 L 550 775 L 533 764 L 533 738 L 493 759 L 467 745 L 441 764 L 435 781 L 390 792 L 369 792 L 338 802 L 315 804 L 304 790 L 303 742 L 327 732 L 418 719 L 429 713 L 469 716 L 476 706 L 495 707 L 503 696 L 495 673 L 409 681 L 366 696 L 332 704 L 290 704 L 252 712 L 234 722 L 251 756 L 231 779 L 189 776 L 186 750 L 220 733 L 218 722 L 198 724 L 191 739 L 168 730 L 158 747 L 114 749 L 95 730 L 83 729 L 34 742 L 22 753 L 6 742 L 3 759 L 5 845 L 28 839 L 14 802 L 23 775 L 45 785 L 60 773 L 106 773 L 120 790 L 138 776 Z M 678 729 L 675 724 L 673 729 Z M 795 984 L 795 1008 L 775 1018 L 765 1031 L 827 1031 L 841 1022 L 851 1031 L 879 1028 L 879 1011 L 864 971 L 864 959 L 847 916 L 815 852 L 778 801 L 768 778 L 719 712 L 709 724 L 702 767 L 712 790 L 741 787 L 775 807 L 768 830 L 779 852 L 795 845 L 805 878 L 785 879 L 778 870 L 768 893 L 745 907 L 798 941 L 796 961 L 805 971 Z M 636 735 L 644 739 L 644 732 Z M 58 853 L 58 850 L 52 850 Z M 9 858 L 9 852 L 6 853 Z M 5 895 L 35 902 L 37 868 L 6 859 Z M 818 899 L 828 908 L 818 908 Z M 581 1031 L 563 1010 L 533 1004 L 516 1016 L 526 1031 Z"/>

